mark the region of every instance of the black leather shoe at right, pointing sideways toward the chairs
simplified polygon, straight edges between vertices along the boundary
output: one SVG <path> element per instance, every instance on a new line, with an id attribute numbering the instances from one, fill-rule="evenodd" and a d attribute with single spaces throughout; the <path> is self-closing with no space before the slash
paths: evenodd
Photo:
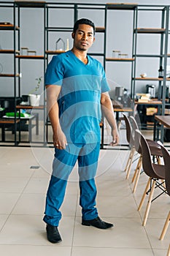
<path id="1" fill-rule="evenodd" d="M 82 225 L 97 227 L 101 230 L 106 230 L 107 228 L 113 227 L 112 223 L 103 222 L 103 220 L 101 220 L 99 217 L 90 220 L 82 219 Z"/>

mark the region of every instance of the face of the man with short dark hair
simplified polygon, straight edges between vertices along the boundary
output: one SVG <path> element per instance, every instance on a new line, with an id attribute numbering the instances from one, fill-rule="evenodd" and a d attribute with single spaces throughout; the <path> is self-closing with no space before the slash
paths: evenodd
<path id="1" fill-rule="evenodd" d="M 74 48 L 87 51 L 95 40 L 93 27 L 86 24 L 80 24 L 76 33 L 72 33 L 72 37 L 74 39 Z"/>

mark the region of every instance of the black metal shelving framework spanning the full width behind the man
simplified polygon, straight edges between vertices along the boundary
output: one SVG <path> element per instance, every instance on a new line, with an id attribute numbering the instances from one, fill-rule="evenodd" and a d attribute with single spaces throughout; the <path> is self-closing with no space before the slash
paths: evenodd
<path id="1" fill-rule="evenodd" d="M 13 12 L 13 24 L 14 27 L 12 28 L 12 33 L 13 33 L 13 39 L 14 39 L 14 44 L 13 44 L 13 65 L 14 65 L 14 70 L 13 70 L 13 75 L 12 78 L 14 79 L 13 82 L 13 89 L 14 89 L 14 97 L 15 97 L 15 106 L 17 105 L 17 97 L 20 96 L 20 88 L 21 88 L 21 83 L 20 83 L 20 69 L 21 69 L 21 59 L 26 59 L 25 57 L 22 58 L 22 56 L 18 56 L 18 50 L 20 50 L 20 25 L 21 25 L 21 20 L 20 20 L 20 9 L 21 8 L 42 8 L 44 12 L 44 53 L 43 56 L 37 56 L 35 59 L 43 59 L 44 60 L 44 73 L 47 68 L 47 64 L 49 62 L 49 56 L 53 54 L 59 54 L 59 52 L 56 52 L 54 50 L 50 50 L 50 45 L 49 45 L 49 38 L 50 38 L 50 33 L 53 32 L 67 32 L 70 31 L 72 32 L 73 26 L 51 26 L 50 27 L 50 10 L 72 10 L 73 11 L 73 21 L 77 20 L 77 18 L 80 18 L 81 16 L 81 11 L 83 10 L 96 10 L 96 11 L 101 11 L 104 12 L 104 18 L 102 19 L 102 24 L 104 26 L 101 27 L 96 27 L 96 33 L 104 34 L 104 39 L 102 40 L 103 43 L 103 48 L 99 52 L 93 52 L 89 53 L 91 56 L 98 56 L 99 58 L 103 59 L 103 65 L 104 69 L 106 69 L 106 64 L 107 61 L 126 61 L 131 63 L 131 99 L 132 99 L 132 104 L 134 106 L 135 103 L 135 94 L 136 94 L 136 88 L 137 88 L 137 81 L 139 82 L 142 80 L 141 78 L 136 78 L 136 60 L 138 58 L 159 58 L 159 63 L 160 66 L 163 65 L 166 67 L 167 65 L 167 58 L 169 58 L 168 54 L 168 42 L 169 42 L 169 5 L 143 5 L 143 4 L 93 4 L 93 3 L 60 3 L 60 2 L 45 2 L 45 1 L 0 1 L 0 8 L 1 7 L 7 7 L 11 8 Z M 133 34 L 132 36 L 132 56 L 129 59 L 114 59 L 114 58 L 107 58 L 107 23 L 108 23 L 108 10 L 131 10 L 134 12 L 133 14 Z M 161 12 L 161 29 L 158 31 L 147 31 L 147 29 L 140 30 L 138 28 L 139 24 L 139 12 Z M 18 33 L 18 34 L 17 34 Z M 138 34 L 139 33 L 157 33 L 161 34 L 161 46 L 160 46 L 160 53 L 158 54 L 139 54 L 137 53 L 137 45 L 138 45 Z M 0 53 L 3 53 L 2 51 Z M 29 58 L 28 58 L 29 59 Z M 31 59 L 31 58 L 30 58 Z M 18 74 L 17 74 L 18 72 Z M 3 75 L 1 75 L 3 76 Z M 145 78 L 143 80 L 152 80 L 152 78 Z M 165 107 L 166 105 L 166 82 L 167 80 L 170 80 L 166 78 L 166 70 L 163 72 L 163 78 L 154 78 L 153 80 L 156 80 L 158 82 L 158 99 L 161 100 L 162 96 L 162 105 L 158 105 L 158 113 L 161 113 L 162 115 L 164 114 Z M 163 85 L 163 86 L 162 86 Z M 161 88 L 163 87 L 163 90 Z M 46 109 L 46 99 L 45 99 L 45 86 L 44 86 L 44 99 L 43 99 L 43 110 L 44 110 L 44 115 L 43 115 L 43 123 L 44 123 L 44 133 L 43 133 L 43 146 L 47 146 L 47 143 L 50 143 L 48 141 L 48 123 L 47 121 L 47 109 Z M 18 137 L 18 131 L 17 131 L 17 119 L 16 119 L 16 108 L 15 108 L 15 138 L 14 141 L 14 146 L 18 146 L 18 143 L 20 143 L 20 133 Z M 161 127 L 161 140 L 163 140 L 163 126 Z M 7 143 L 5 145 L 1 146 L 7 146 Z M 11 146 L 11 144 L 10 144 Z M 22 146 L 22 145 L 20 145 Z M 105 148 L 104 144 L 104 124 L 101 127 L 101 148 Z"/>

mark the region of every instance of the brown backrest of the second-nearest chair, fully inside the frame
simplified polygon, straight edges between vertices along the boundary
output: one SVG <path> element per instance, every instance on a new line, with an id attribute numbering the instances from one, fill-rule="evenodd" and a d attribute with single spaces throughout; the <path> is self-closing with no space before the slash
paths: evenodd
<path id="1" fill-rule="evenodd" d="M 139 140 L 141 149 L 142 149 L 142 166 L 144 169 L 144 173 L 147 174 L 147 176 L 150 176 L 152 178 L 157 178 L 157 175 L 155 174 L 154 167 L 152 165 L 152 157 L 150 154 L 150 148 L 147 144 L 147 140 L 145 140 L 142 133 L 139 131 L 139 129 L 135 130 L 135 138 Z"/>

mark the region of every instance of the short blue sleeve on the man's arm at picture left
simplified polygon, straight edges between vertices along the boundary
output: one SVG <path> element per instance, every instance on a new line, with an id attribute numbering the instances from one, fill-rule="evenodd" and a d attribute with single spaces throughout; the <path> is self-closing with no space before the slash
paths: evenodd
<path id="1" fill-rule="evenodd" d="M 45 72 L 45 85 L 59 85 L 63 83 L 63 63 L 58 56 L 53 56 L 53 59 L 47 65 Z"/>

